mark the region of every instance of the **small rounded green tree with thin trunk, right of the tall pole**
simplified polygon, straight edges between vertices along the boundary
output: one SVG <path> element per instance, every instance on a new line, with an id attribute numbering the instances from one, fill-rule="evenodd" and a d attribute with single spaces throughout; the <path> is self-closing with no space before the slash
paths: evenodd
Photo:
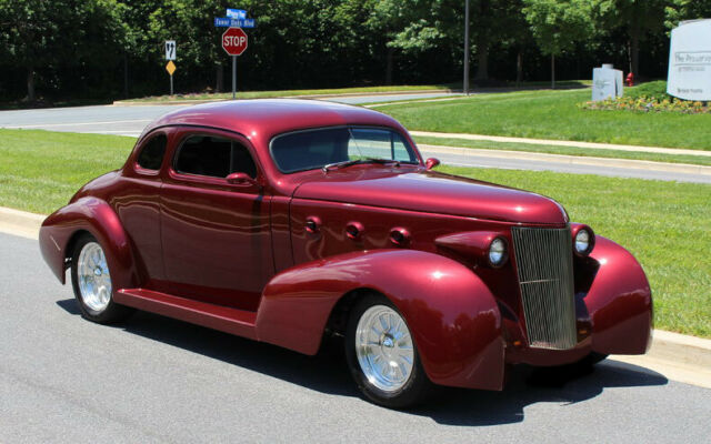
<path id="1" fill-rule="evenodd" d="M 592 4 L 587 0 L 523 0 L 523 13 L 543 54 L 551 57 L 555 88 L 555 56 L 572 50 L 593 32 Z"/>

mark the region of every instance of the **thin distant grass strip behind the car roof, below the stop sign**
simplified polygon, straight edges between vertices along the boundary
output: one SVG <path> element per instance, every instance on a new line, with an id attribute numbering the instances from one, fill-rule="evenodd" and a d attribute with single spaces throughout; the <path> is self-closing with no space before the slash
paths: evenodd
<path id="1" fill-rule="evenodd" d="M 363 88 L 337 88 L 319 90 L 284 90 L 284 91 L 238 91 L 238 99 L 268 99 L 296 95 L 330 95 L 330 94 L 359 94 L 375 92 L 409 92 L 409 91 L 449 91 L 450 84 L 423 84 L 423 85 L 397 85 L 397 87 L 363 87 Z M 176 95 L 154 95 L 141 99 L 124 100 L 124 102 L 169 102 L 183 100 L 222 100 L 232 99 L 231 92 L 221 93 L 191 93 Z"/>

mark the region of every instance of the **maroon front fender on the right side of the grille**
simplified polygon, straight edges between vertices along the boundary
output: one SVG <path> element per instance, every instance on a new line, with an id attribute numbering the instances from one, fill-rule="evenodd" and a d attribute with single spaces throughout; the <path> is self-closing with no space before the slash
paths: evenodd
<path id="1" fill-rule="evenodd" d="M 592 350 L 643 354 L 651 342 L 652 292 L 642 266 L 630 252 L 602 236 L 597 236 L 590 256 L 599 264 L 584 299 L 592 323 Z"/>

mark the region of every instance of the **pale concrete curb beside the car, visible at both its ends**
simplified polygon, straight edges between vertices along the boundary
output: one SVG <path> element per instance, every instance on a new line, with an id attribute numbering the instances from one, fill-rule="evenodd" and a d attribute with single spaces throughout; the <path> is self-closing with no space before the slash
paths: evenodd
<path id="1" fill-rule="evenodd" d="M 44 215 L 0 206 L 0 232 L 38 239 Z M 647 355 L 612 360 L 645 366 L 669 379 L 711 389 L 711 340 L 654 330 Z"/>

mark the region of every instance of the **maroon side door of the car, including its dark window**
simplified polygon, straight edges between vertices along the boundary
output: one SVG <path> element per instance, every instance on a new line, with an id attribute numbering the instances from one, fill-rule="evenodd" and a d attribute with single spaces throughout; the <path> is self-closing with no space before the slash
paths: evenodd
<path id="1" fill-rule="evenodd" d="M 270 196 L 251 143 L 237 134 L 184 129 L 161 189 L 161 240 L 171 294 L 256 311 L 274 274 Z M 253 181 L 229 183 L 247 173 Z"/>

